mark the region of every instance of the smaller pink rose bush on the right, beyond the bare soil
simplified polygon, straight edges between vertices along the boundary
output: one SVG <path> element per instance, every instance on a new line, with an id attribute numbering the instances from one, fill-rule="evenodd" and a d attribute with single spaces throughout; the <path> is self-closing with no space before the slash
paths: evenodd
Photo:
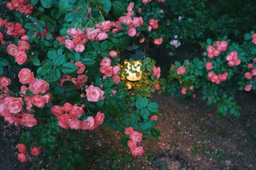
<path id="1" fill-rule="evenodd" d="M 227 37 L 222 41 L 207 39 L 207 56 L 195 58 L 184 64 L 175 62 L 170 67 L 168 79 L 163 87 L 170 96 L 182 98 L 202 97 L 207 105 L 217 105 L 217 112 L 239 117 L 235 101 L 237 91 L 255 90 L 256 34 L 244 35 L 244 43 L 231 43 Z"/>

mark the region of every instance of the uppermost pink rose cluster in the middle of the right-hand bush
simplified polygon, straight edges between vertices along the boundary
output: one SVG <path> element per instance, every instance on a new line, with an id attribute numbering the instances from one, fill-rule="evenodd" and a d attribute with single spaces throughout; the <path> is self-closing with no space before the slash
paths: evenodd
<path id="1" fill-rule="evenodd" d="M 227 50 L 228 42 L 227 41 L 216 41 L 216 43 L 207 47 L 208 56 L 213 59 L 220 55 L 221 52 L 225 52 Z"/>

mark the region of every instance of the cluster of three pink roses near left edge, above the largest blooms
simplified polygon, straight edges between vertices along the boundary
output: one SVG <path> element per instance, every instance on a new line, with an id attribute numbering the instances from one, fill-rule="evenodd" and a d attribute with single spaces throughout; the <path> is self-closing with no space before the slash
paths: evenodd
<path id="1" fill-rule="evenodd" d="M 29 39 L 29 38 L 24 38 L 24 39 Z M 28 51 L 29 49 L 30 49 L 30 45 L 27 41 L 18 41 L 18 46 L 13 44 L 10 44 L 7 46 L 7 53 L 15 57 L 15 61 L 17 62 L 17 64 L 22 65 L 28 59 L 28 55 L 26 51 Z"/>

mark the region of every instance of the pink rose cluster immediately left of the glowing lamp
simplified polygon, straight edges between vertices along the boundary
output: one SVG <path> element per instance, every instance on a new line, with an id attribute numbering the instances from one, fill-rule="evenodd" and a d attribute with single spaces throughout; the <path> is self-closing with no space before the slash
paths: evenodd
<path id="1" fill-rule="evenodd" d="M 119 66 L 112 67 L 111 59 L 108 57 L 104 57 L 100 62 L 100 73 L 104 74 L 104 79 L 107 77 L 112 77 L 115 81 L 115 85 L 120 83 L 120 76 L 118 76 L 121 71 Z"/>

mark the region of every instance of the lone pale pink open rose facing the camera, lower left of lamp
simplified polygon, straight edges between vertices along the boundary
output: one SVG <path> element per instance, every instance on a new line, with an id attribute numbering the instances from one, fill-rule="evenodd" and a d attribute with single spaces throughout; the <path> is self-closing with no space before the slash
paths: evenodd
<path id="1" fill-rule="evenodd" d="M 99 89 L 99 87 L 94 87 L 90 85 L 86 88 L 86 97 L 88 101 L 97 102 L 102 98 L 104 92 Z"/>

